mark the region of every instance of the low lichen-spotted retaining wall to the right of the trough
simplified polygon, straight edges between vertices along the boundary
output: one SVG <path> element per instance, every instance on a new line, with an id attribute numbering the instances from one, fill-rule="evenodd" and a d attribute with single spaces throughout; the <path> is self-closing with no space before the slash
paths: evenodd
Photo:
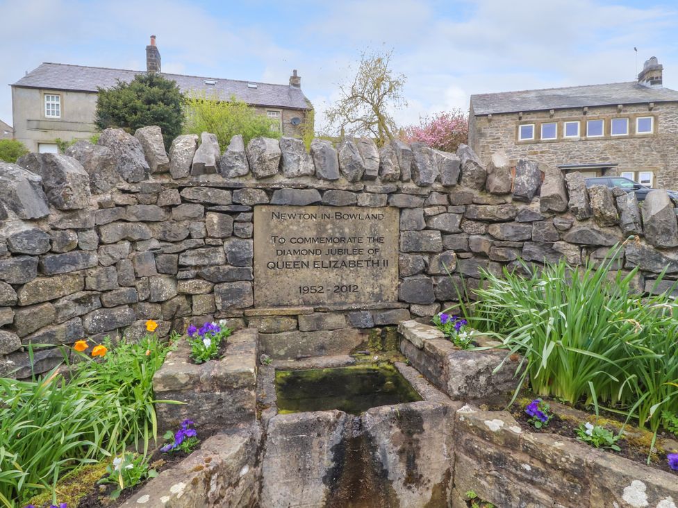
<path id="1" fill-rule="evenodd" d="M 456 413 L 455 500 L 473 490 L 496 506 L 675 506 L 678 482 L 572 437 L 526 432 L 505 411 L 466 405 Z"/>

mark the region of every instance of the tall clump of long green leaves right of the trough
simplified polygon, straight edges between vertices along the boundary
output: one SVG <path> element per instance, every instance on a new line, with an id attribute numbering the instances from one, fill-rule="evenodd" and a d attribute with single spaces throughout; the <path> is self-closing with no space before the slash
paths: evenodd
<path id="1" fill-rule="evenodd" d="M 678 304 L 670 290 L 637 294 L 637 269 L 614 269 L 621 248 L 600 266 L 484 272 L 470 324 L 522 355 L 520 384 L 536 395 L 600 403 L 656 435 L 662 411 L 678 414 Z"/>

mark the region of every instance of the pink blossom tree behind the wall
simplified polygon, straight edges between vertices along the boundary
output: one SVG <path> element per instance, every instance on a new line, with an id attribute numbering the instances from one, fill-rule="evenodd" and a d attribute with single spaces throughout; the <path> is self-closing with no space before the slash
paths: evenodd
<path id="1" fill-rule="evenodd" d="M 468 142 L 468 113 L 454 109 L 421 118 L 419 125 L 402 129 L 400 137 L 408 143 L 423 142 L 433 149 L 454 152 Z"/>

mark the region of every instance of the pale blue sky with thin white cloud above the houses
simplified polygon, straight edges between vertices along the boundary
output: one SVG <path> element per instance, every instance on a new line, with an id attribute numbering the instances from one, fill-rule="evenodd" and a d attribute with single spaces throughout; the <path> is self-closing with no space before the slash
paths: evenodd
<path id="1" fill-rule="evenodd" d="M 678 90 L 678 1 L 0 0 L 0 119 L 11 83 L 41 62 L 145 69 L 157 36 L 163 71 L 288 83 L 324 124 L 361 53 L 392 51 L 406 76 L 399 125 L 471 94 L 633 81 L 656 56 Z"/>

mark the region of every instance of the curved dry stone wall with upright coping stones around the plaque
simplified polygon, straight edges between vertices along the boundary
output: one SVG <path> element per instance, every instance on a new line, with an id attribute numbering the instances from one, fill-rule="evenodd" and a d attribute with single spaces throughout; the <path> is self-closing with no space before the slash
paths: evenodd
<path id="1" fill-rule="evenodd" d="M 254 208 L 320 205 L 395 208 L 397 293 L 388 300 L 255 306 Z M 618 269 L 640 266 L 638 291 L 656 274 L 678 276 L 673 203 L 651 192 L 586 189 L 530 160 L 485 165 L 468 146 L 456 154 L 370 139 L 333 146 L 316 139 L 235 136 L 220 153 L 209 133 L 181 135 L 165 153 L 160 130 L 107 129 L 99 143 L 65 155 L 31 153 L 0 164 L 0 375 L 31 375 L 27 346 L 83 337 L 139 337 L 147 319 L 160 335 L 189 321 L 228 319 L 258 328 L 274 358 L 343 354 L 361 330 L 428 320 L 452 305 L 480 269 L 600 259 L 627 235 Z M 346 283 L 359 275 L 346 269 Z M 448 275 L 448 272 L 452 276 Z M 295 283 L 293 271 L 290 284 Z M 472 297 L 472 292 L 471 295 Z M 41 373 L 63 358 L 37 348 Z"/>

